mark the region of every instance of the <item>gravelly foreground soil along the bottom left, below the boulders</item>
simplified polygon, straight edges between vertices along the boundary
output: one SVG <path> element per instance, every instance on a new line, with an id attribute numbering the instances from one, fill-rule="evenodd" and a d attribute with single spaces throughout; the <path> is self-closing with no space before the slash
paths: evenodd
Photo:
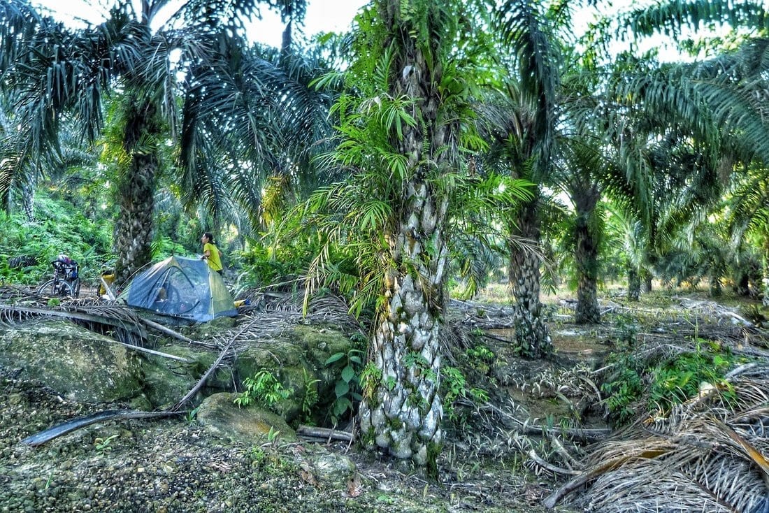
<path id="1" fill-rule="evenodd" d="M 114 407 L 65 400 L 2 369 L 0 511 L 534 512 L 554 488 L 511 461 L 471 460 L 451 442 L 434 481 L 347 444 L 248 445 L 185 417 L 105 421 L 35 448 L 19 443 Z"/>

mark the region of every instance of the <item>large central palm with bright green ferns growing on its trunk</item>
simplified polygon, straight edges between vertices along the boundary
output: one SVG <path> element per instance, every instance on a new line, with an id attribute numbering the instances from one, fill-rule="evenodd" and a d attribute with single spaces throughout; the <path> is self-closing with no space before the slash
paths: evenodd
<path id="1" fill-rule="evenodd" d="M 471 100 L 485 62 L 466 36 L 477 32 L 474 6 L 375 0 L 359 15 L 347 93 L 334 108 L 339 144 L 329 155 L 355 175 L 303 207 L 323 237 L 355 248 L 356 297 L 376 298 L 361 375 L 362 439 L 429 467 L 443 438 L 438 333 L 458 209 L 452 198 L 502 190 L 498 177 L 468 172 L 461 158 L 482 146 Z M 504 190 L 521 194 L 521 185 Z M 329 275 L 333 264 L 325 251 L 315 268 Z"/>

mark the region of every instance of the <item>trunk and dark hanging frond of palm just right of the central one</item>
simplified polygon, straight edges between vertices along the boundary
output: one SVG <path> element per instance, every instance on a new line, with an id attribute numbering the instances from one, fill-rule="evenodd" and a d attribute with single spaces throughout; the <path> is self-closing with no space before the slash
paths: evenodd
<path id="1" fill-rule="evenodd" d="M 510 131 L 502 132 L 498 142 L 514 176 L 542 185 L 551 170 L 560 65 L 551 23 L 539 2 L 508 0 L 498 8 L 497 28 L 509 52 L 504 62 L 511 70 L 506 87 L 511 108 L 505 109 L 511 117 L 501 125 Z M 537 188 L 533 198 L 508 219 L 508 232 L 514 238 L 538 244 L 540 198 Z M 517 244 L 509 245 L 508 251 L 516 345 L 523 355 L 548 355 L 552 343 L 540 301 L 540 255 Z"/>

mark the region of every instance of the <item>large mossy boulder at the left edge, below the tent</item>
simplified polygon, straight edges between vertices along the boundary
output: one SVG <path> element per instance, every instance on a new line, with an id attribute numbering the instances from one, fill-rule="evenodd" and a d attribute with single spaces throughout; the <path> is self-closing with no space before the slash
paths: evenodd
<path id="1" fill-rule="evenodd" d="M 0 329 L 0 365 L 21 368 L 26 377 L 78 401 L 125 400 L 144 387 L 138 355 L 69 321 Z"/>

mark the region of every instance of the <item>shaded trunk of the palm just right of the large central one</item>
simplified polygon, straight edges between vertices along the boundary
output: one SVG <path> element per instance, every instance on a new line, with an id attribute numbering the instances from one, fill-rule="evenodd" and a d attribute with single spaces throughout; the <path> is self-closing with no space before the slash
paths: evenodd
<path id="1" fill-rule="evenodd" d="M 540 228 L 537 217 L 538 200 L 534 199 L 521 205 L 515 234 L 533 243 L 539 243 Z M 540 257 L 531 249 L 522 248 L 512 243 L 510 249 L 510 278 L 513 294 L 513 326 L 515 329 L 515 345 L 521 355 L 530 358 L 541 358 L 553 351 L 553 345 L 548 335 L 548 327 L 544 324 L 540 294 Z"/>

